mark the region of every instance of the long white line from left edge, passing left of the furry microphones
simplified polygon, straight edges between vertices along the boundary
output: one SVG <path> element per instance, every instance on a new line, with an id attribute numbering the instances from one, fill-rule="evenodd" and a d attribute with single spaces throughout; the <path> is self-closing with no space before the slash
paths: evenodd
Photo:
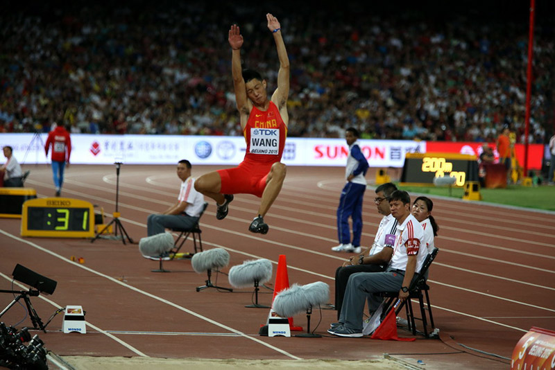
<path id="1" fill-rule="evenodd" d="M 160 301 L 160 302 L 162 302 L 162 303 L 166 303 L 168 306 L 172 306 L 173 308 L 177 308 L 178 310 L 181 310 L 181 311 L 183 311 L 183 312 L 186 312 L 186 313 L 188 313 L 189 315 L 192 315 L 192 316 L 194 316 L 194 317 L 197 317 L 198 319 L 207 321 L 207 322 L 209 322 L 210 324 L 213 324 L 213 325 L 215 325 L 215 326 L 219 326 L 220 328 L 223 328 L 223 329 L 225 329 L 225 330 L 227 330 L 227 331 L 230 331 L 230 332 L 232 332 L 232 333 L 235 333 L 235 334 L 237 334 L 237 335 L 241 335 L 241 337 L 247 338 L 248 340 L 252 340 L 253 342 L 256 342 L 256 343 L 258 343 L 258 344 L 262 344 L 262 346 L 266 346 L 266 347 L 268 347 L 268 349 L 272 349 L 273 351 L 282 353 L 282 355 L 286 355 L 286 356 L 289 357 L 289 358 L 293 358 L 294 360 L 302 360 L 302 358 L 299 358 L 299 357 L 297 357 L 296 355 L 292 355 L 291 353 L 289 353 L 289 352 L 287 352 L 287 351 L 284 351 L 284 350 L 282 350 L 282 349 L 280 349 L 280 348 L 278 348 L 278 347 L 276 347 L 276 346 L 272 346 L 271 344 L 268 344 L 268 343 L 266 343 L 266 342 L 263 342 L 262 340 L 259 340 L 259 339 L 255 338 L 255 337 L 250 337 L 250 335 L 247 335 L 247 334 L 245 334 L 245 333 L 243 333 L 243 332 L 241 332 L 241 331 L 238 331 L 237 329 L 231 328 L 230 326 L 221 324 L 221 323 L 218 322 L 218 321 L 214 321 L 214 320 L 212 320 L 212 319 L 210 319 L 210 318 L 208 318 L 208 317 L 205 317 L 205 316 L 203 316 L 203 315 L 200 315 L 200 314 L 198 314 L 198 313 L 196 313 L 196 312 L 194 312 L 194 311 L 191 311 L 191 310 L 189 310 L 189 309 L 187 309 L 187 308 L 185 308 L 185 307 L 179 306 L 178 304 L 173 303 L 172 301 L 168 301 L 167 299 L 163 299 L 162 297 L 158 297 L 158 296 L 156 296 L 156 295 L 154 295 L 154 294 L 151 294 L 151 293 L 146 292 L 146 291 L 144 291 L 144 290 L 141 290 L 141 289 L 139 289 L 139 288 L 135 288 L 133 285 L 129 285 L 129 284 L 127 284 L 127 283 L 123 283 L 123 281 L 119 281 L 119 280 L 117 280 L 117 279 L 114 279 L 114 278 L 112 278 L 112 276 L 108 276 L 108 275 L 106 275 L 106 274 L 103 274 L 102 272 L 93 270 L 92 268 L 87 267 L 87 266 L 85 266 L 85 265 L 81 265 L 80 263 L 76 263 L 76 262 L 74 262 L 74 261 L 69 261 L 67 258 L 64 258 L 63 256 L 60 256 L 60 255 L 57 254 L 56 252 L 51 252 L 49 249 L 46 249 L 46 248 L 44 248 L 44 247 L 40 247 L 40 245 L 36 245 L 35 243 L 29 242 L 28 240 L 24 240 L 24 239 L 22 239 L 22 238 L 19 238 L 19 237 L 17 237 L 17 236 L 12 235 L 12 234 L 8 234 L 8 233 L 6 233 L 6 231 L 3 231 L 3 230 L 1 230 L 1 229 L 0 229 L 0 233 L 4 234 L 4 235 L 6 235 L 6 236 L 9 236 L 10 238 L 13 238 L 13 239 L 15 239 L 15 240 L 19 240 L 19 241 L 22 242 L 22 243 L 26 243 L 26 244 L 28 244 L 28 245 L 31 245 L 31 247 L 34 247 L 34 248 L 36 248 L 36 249 L 39 249 L 40 251 L 42 251 L 42 252 L 44 252 L 44 253 L 47 253 L 47 254 L 50 254 L 51 256 L 54 256 L 54 257 L 56 257 L 56 258 L 59 258 L 61 261 L 64 261 L 65 263 L 70 263 L 70 264 L 72 264 L 72 265 L 74 265 L 74 266 L 76 266 L 76 267 L 80 267 L 80 268 L 82 268 L 83 270 L 86 270 L 86 271 L 88 271 L 88 272 L 91 272 L 92 274 L 96 274 L 96 275 L 98 275 L 98 276 L 103 277 L 104 279 L 108 279 L 109 281 L 112 281 L 112 283 L 117 283 L 117 284 L 119 284 L 119 285 L 121 285 L 121 286 L 123 286 L 123 287 L 125 287 L 125 288 L 128 288 L 128 289 L 130 289 L 130 290 L 133 290 L 133 291 L 135 291 L 135 292 L 137 292 L 137 293 L 144 294 L 146 297 L 150 297 L 150 298 L 156 299 L 157 301 Z M 5 275 L 4 275 L 4 276 L 5 276 Z M 8 279 L 9 279 L 9 278 L 8 278 Z M 43 297 L 43 299 L 44 299 L 44 297 Z M 55 303 L 51 302 L 51 304 L 55 304 Z M 58 308 L 61 308 L 61 307 L 58 307 Z M 95 328 L 95 330 L 101 331 L 101 329 L 100 329 L 100 328 L 96 328 L 96 326 L 92 326 L 92 327 Z M 111 335 L 111 334 L 109 334 L 109 333 L 105 333 L 105 335 L 108 335 L 108 336 L 112 336 L 112 337 L 113 337 L 113 335 Z M 114 338 L 115 338 L 115 337 L 114 337 Z M 137 350 L 137 351 L 138 351 L 138 350 Z"/>

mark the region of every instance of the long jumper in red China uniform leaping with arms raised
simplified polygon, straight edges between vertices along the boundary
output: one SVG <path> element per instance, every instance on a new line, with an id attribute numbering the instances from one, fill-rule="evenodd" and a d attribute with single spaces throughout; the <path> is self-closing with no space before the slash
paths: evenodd
<path id="1" fill-rule="evenodd" d="M 233 194 L 246 193 L 261 197 L 258 215 L 248 228 L 249 231 L 260 234 L 268 232 L 264 215 L 278 197 L 285 179 L 286 167 L 280 160 L 289 123 L 289 58 L 280 22 L 269 13 L 266 19 L 280 60 L 278 88 L 271 99 L 268 99 L 266 80 L 256 71 L 241 72 L 243 36 L 239 32 L 239 26 L 232 25 L 228 41 L 232 49 L 232 76 L 237 110 L 247 142 L 246 155 L 236 168 L 207 173 L 195 182 L 197 191 L 216 201 L 218 220 L 228 215 L 228 205 L 233 200 Z"/>

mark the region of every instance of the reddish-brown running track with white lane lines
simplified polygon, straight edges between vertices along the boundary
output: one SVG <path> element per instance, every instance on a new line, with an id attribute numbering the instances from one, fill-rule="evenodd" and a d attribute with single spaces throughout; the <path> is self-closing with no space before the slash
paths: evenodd
<path id="1" fill-rule="evenodd" d="M 39 197 L 53 196 L 50 168 L 27 169 L 31 175 L 26 186 L 36 188 Z M 214 169 L 194 166 L 193 175 Z M 229 267 L 254 258 L 277 263 L 279 255 L 285 254 L 290 283 L 323 281 L 330 285 L 333 297 L 334 271 L 349 256 L 330 250 L 337 244 L 335 211 L 342 179 L 343 168 L 288 168 L 282 193 L 265 218 L 271 227 L 266 236 L 247 231 L 257 198 L 237 195 L 222 221 L 214 217 L 210 201 L 201 220 L 205 249 L 227 249 Z M 110 214 L 115 180 L 112 166 L 71 166 L 62 195 L 98 204 Z M 175 166 L 122 166 L 120 220 L 136 242 L 146 236 L 147 215 L 173 204 L 178 187 Z M 373 240 L 381 218 L 370 201 L 373 195 L 366 192 L 365 246 Z M 406 343 L 331 337 L 326 330 L 335 321 L 332 310 L 321 311 L 316 333 L 322 338 L 260 337 L 259 326 L 265 324 L 268 310 L 244 307 L 251 303 L 252 290 L 196 292 L 206 276 L 196 274 L 190 260 L 166 262 L 164 267 L 171 273 L 154 273 L 157 262 L 143 258 L 136 244 L 22 238 L 20 221 L 14 219 L 0 220 L 0 289 L 11 289 L 11 272 L 20 263 L 58 281 L 51 296 L 32 298 L 43 321 L 56 308 L 83 306 L 89 324 L 86 335 L 60 333 L 62 315 L 53 318 L 48 333 L 39 333 L 46 347 L 58 355 L 368 360 L 389 353 L 407 362 L 424 360 L 428 369 L 506 369 L 509 360 L 504 358 L 511 358 L 515 344 L 531 326 L 555 328 L 555 215 L 433 199 L 434 217 L 441 228 L 436 238 L 440 252 L 429 284 L 442 340 L 417 337 L 416 342 Z M 184 249 L 192 249 L 189 242 Z M 70 256 L 83 257 L 85 263 L 71 262 Z M 223 274 L 217 283 L 230 286 Z M 271 288 L 273 280 L 266 285 Z M 22 287 L 14 285 L 14 289 Z M 259 301 L 270 304 L 271 297 L 271 291 L 263 288 Z M 0 306 L 12 299 L 10 294 L 0 294 Z M 15 305 L 1 321 L 16 324 L 25 312 Z M 312 329 L 319 318 L 320 312 L 315 311 Z M 306 330 L 305 315 L 293 319 Z M 31 326 L 28 317 L 21 326 Z M 411 336 L 402 330 L 399 334 Z"/>

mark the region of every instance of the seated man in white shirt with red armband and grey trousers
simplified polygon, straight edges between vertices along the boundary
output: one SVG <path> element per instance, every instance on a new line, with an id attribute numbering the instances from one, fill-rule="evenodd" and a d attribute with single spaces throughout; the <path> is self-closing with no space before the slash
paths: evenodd
<path id="1" fill-rule="evenodd" d="M 379 292 L 399 290 L 399 298 L 409 297 L 411 281 L 418 276 L 427 255 L 425 246 L 420 247 L 424 230 L 411 214 L 411 197 L 406 191 L 395 191 L 389 197 L 391 214 L 398 221 L 395 247 L 391 263 L 385 272 L 358 272 L 349 277 L 341 307 L 339 323 L 332 324 L 329 333 L 339 337 L 362 337 L 364 305 L 368 299 L 370 312 L 382 303 Z"/>

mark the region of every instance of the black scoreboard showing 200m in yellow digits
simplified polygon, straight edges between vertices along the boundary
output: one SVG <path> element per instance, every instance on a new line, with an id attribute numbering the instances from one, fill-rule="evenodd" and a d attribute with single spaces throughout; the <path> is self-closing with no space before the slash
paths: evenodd
<path id="1" fill-rule="evenodd" d="M 454 186 L 478 181 L 478 162 L 475 155 L 455 153 L 407 153 L 404 159 L 401 185 L 428 186 L 434 177 L 454 177 Z"/>

